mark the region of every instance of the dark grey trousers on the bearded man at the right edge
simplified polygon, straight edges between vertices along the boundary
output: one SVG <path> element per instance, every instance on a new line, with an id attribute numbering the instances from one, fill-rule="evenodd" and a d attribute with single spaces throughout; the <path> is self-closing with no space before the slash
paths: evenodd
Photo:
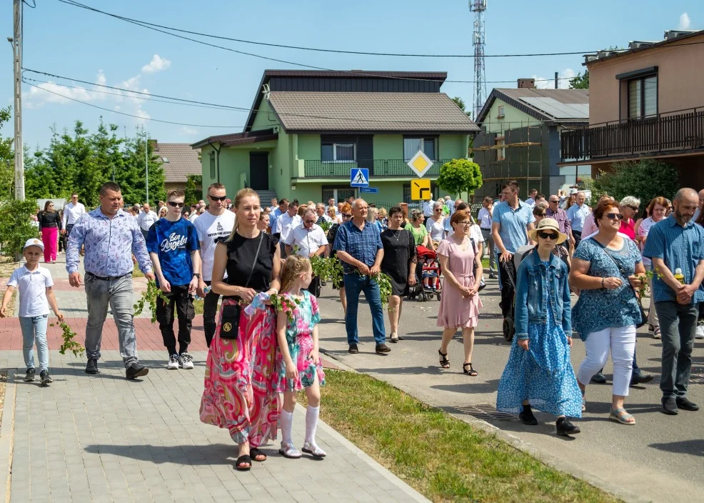
<path id="1" fill-rule="evenodd" d="M 692 349 L 699 306 L 675 301 L 655 302 L 663 337 L 663 398 L 685 397 L 692 369 Z"/>

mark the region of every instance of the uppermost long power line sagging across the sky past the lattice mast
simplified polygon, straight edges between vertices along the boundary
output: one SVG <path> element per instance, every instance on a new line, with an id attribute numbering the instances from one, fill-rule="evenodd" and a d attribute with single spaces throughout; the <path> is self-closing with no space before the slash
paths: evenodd
<path id="1" fill-rule="evenodd" d="M 81 9 L 86 9 L 99 14 L 105 14 L 106 16 L 111 16 L 116 19 L 121 19 L 123 21 L 130 21 L 134 23 L 143 24 L 146 26 L 154 26 L 156 28 L 178 31 L 180 33 L 186 33 L 189 35 L 205 36 L 211 39 L 227 40 L 232 42 L 239 42 L 241 44 L 253 44 L 258 46 L 268 46 L 268 47 L 279 47 L 281 49 L 295 49 L 298 51 L 316 51 L 316 52 L 331 52 L 335 54 L 358 54 L 361 56 L 393 56 L 393 57 L 409 57 L 409 58 L 473 58 L 473 54 L 402 54 L 393 52 L 369 52 L 369 51 L 345 51 L 343 49 L 321 49 L 320 47 L 304 47 L 304 46 L 291 46 L 286 44 L 272 44 L 269 42 L 260 42 L 245 39 L 233 39 L 228 36 L 212 35 L 202 33 L 200 31 L 191 31 L 185 29 L 174 28 L 173 26 L 164 26 L 163 24 L 149 23 L 148 21 L 141 21 L 139 19 L 132 19 L 125 16 L 119 16 L 118 14 L 111 14 L 109 12 L 101 11 L 95 9 L 94 7 L 80 4 L 74 0 L 59 0 L 64 4 L 79 7 Z M 623 49 L 625 50 L 625 49 Z M 486 54 L 486 58 L 516 58 L 516 57 L 529 57 L 529 56 L 570 56 L 574 54 L 586 54 L 593 51 L 573 51 L 573 52 L 548 52 L 548 53 L 535 53 L 535 54 Z"/>

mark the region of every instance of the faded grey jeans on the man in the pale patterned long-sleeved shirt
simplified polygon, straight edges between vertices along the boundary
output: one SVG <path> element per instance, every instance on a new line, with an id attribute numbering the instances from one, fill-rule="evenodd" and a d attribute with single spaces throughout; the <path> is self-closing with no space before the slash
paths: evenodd
<path id="1" fill-rule="evenodd" d="M 106 281 L 86 274 L 88 322 L 86 323 L 86 357 L 100 359 L 103 324 L 112 309 L 120 343 L 120 355 L 125 367 L 137 362 L 137 342 L 134 334 L 132 275 Z"/>

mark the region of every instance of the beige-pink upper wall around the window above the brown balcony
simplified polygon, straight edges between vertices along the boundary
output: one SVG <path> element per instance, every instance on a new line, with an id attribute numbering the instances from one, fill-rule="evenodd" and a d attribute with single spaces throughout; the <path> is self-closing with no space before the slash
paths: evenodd
<path id="1" fill-rule="evenodd" d="M 701 42 L 704 42 L 704 35 L 588 64 L 590 124 L 625 119 L 622 104 L 626 94 L 622 88 L 620 102 L 620 81 L 615 76 L 650 66 L 658 66 L 658 112 L 704 106 L 701 93 L 704 44 Z"/>

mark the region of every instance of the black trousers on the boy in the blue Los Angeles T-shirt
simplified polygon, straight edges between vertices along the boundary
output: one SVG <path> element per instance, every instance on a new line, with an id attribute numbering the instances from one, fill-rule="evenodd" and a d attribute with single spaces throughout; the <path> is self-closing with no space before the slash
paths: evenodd
<path id="1" fill-rule="evenodd" d="M 161 339 L 169 354 L 176 353 L 176 336 L 174 335 L 174 308 L 178 314 L 178 354 L 188 351 L 191 344 L 191 326 L 196 316 L 193 308 L 193 297 L 188 293 L 188 285 L 171 285 L 171 293 L 164 294 L 169 298 L 167 304 L 161 297 L 156 297 L 156 321 L 159 322 Z"/>

